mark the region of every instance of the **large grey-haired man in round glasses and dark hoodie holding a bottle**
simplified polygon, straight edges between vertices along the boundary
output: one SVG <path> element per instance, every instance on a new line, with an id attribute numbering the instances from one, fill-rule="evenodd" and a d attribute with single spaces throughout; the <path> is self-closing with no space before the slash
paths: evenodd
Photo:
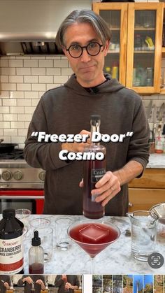
<path id="1" fill-rule="evenodd" d="M 83 162 L 60 160 L 59 152 L 83 152 L 89 140 L 46 143 L 38 142 L 31 134 L 89 134 L 90 115 L 98 114 L 101 133 L 120 136 L 133 132 L 122 143 L 106 143 L 107 172 L 92 190 L 92 195 L 99 194 L 95 200 L 106 206 L 106 215 L 125 215 L 127 183 L 141 176 L 149 157 L 149 128 L 141 97 L 103 73 L 110 31 L 93 11 L 74 10 L 59 27 L 56 43 L 69 59 L 74 74 L 64 86 L 43 94 L 24 148 L 27 162 L 46 170 L 44 213 L 82 214 Z"/>

